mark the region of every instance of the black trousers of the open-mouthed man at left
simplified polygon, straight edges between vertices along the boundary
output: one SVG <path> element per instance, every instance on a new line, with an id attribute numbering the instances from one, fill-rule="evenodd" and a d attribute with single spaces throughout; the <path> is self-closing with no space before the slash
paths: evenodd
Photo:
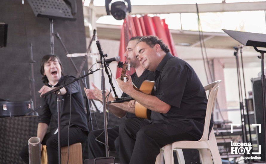
<path id="1" fill-rule="evenodd" d="M 58 133 L 54 134 L 57 128 L 53 129 L 50 133 L 45 134 L 42 140 L 42 145 L 46 145 L 48 163 L 57 164 L 58 163 Z M 83 143 L 87 139 L 88 132 L 83 131 L 76 126 L 71 126 L 69 128 L 69 145 L 74 143 Z M 68 146 L 68 128 L 64 127 L 61 129 L 60 137 L 61 147 Z M 20 151 L 20 157 L 26 163 L 29 163 L 29 146 L 26 145 Z"/>

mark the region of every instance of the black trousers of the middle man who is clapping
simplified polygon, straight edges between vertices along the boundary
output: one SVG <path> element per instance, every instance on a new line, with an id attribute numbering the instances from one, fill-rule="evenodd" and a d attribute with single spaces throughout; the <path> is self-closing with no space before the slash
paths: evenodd
<path id="1" fill-rule="evenodd" d="M 117 154 L 119 154 L 118 130 L 119 126 L 114 126 L 107 129 L 109 149 L 110 151 L 117 151 Z M 98 137 L 103 131 L 104 129 L 94 130 L 88 135 L 89 151 L 92 154 L 92 159 L 97 157 L 106 157 L 105 145 L 95 140 L 95 138 Z M 97 140 L 105 143 L 104 132 L 97 138 Z"/>

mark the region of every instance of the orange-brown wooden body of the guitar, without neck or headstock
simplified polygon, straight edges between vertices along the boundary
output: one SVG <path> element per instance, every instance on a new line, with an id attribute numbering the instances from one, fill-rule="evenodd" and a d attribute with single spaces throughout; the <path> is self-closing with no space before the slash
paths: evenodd
<path id="1" fill-rule="evenodd" d="M 143 83 L 140 86 L 140 89 L 138 89 L 138 90 L 140 92 L 145 93 L 145 94 L 151 95 L 154 84 L 155 84 L 154 81 L 145 80 L 145 81 L 143 81 Z M 144 107 L 143 105 L 141 105 L 140 103 L 138 103 L 136 101 L 136 104 L 135 104 L 136 117 L 145 118 L 145 119 L 150 120 L 151 119 L 151 112 L 152 112 L 151 110 L 147 109 L 146 107 Z"/>

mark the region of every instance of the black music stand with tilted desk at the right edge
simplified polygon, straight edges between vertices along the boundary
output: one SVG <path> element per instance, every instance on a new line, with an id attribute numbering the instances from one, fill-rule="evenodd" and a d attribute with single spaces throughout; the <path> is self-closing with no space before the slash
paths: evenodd
<path id="1" fill-rule="evenodd" d="M 261 59 L 261 81 L 262 81 L 262 111 L 263 111 L 263 131 L 264 136 L 266 136 L 266 89 L 265 89 L 265 75 L 264 75 L 264 53 L 265 50 L 259 50 L 257 47 L 265 47 L 266 48 L 266 35 L 265 34 L 258 34 L 258 33 L 247 33 L 247 32 L 240 32 L 240 31 L 232 31 L 232 30 L 225 30 L 222 29 L 225 33 L 227 33 L 230 37 L 238 41 L 239 43 L 245 46 L 252 46 L 257 52 L 260 52 L 260 56 L 258 58 Z M 264 137 L 264 144 L 266 144 L 266 137 Z M 266 157 L 266 151 L 264 154 Z"/>

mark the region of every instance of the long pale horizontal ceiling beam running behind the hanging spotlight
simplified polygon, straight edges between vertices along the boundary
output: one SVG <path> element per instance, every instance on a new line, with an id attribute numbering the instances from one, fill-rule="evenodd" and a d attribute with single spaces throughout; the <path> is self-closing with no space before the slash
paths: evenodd
<path id="1" fill-rule="evenodd" d="M 200 13 L 266 10 L 266 2 L 198 4 Z M 97 16 L 106 14 L 105 6 L 93 6 Z M 86 8 L 86 7 L 85 7 Z M 131 14 L 196 13 L 195 4 L 132 5 Z"/>

